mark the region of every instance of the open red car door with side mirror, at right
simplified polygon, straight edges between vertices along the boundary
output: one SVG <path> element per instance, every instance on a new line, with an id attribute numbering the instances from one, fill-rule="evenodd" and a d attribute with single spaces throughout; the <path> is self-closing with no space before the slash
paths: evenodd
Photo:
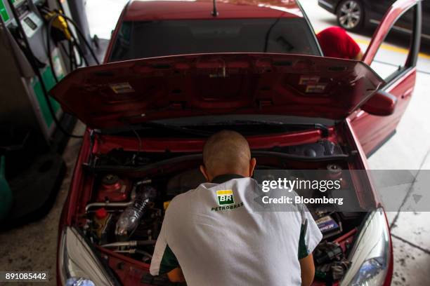
<path id="1" fill-rule="evenodd" d="M 374 98 L 372 97 L 367 104 L 349 117 L 367 156 L 381 147 L 396 132 L 400 118 L 412 97 L 421 36 L 421 5 L 419 0 L 396 1 L 386 12 L 363 56 L 363 62 L 369 64 L 386 81 L 379 93 L 374 94 Z M 408 22 L 408 27 L 405 27 L 405 22 Z M 407 53 L 405 50 L 382 44 L 391 30 L 410 35 Z M 381 49 L 386 49 L 385 58 L 382 60 L 375 57 Z M 389 53 L 396 53 L 396 51 L 403 53 L 405 59 L 403 62 L 393 64 L 393 55 L 394 57 L 396 55 L 389 55 Z M 387 102 L 393 107 L 391 111 L 381 109 L 383 104 L 387 105 Z"/>

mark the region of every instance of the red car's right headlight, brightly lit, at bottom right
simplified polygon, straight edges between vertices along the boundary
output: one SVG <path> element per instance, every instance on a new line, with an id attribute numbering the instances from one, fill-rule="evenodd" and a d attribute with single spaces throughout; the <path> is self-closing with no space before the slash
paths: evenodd
<path id="1" fill-rule="evenodd" d="M 390 255 L 389 226 L 380 208 L 367 217 L 348 257 L 352 264 L 341 285 L 384 285 Z"/>

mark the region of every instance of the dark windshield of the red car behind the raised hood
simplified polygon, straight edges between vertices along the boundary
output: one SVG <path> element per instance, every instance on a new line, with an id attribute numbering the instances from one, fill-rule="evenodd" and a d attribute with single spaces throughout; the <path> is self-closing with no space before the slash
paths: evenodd
<path id="1" fill-rule="evenodd" d="M 124 22 L 111 62 L 195 53 L 320 55 L 302 18 Z"/>

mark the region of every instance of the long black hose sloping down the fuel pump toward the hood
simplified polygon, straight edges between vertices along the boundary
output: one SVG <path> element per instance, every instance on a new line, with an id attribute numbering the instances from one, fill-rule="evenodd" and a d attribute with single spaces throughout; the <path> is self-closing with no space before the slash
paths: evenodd
<path id="1" fill-rule="evenodd" d="M 37 79 L 39 79 L 40 86 L 41 86 L 42 92 L 44 93 L 44 98 L 46 100 L 46 104 L 48 105 L 48 109 L 49 109 L 49 112 L 51 113 L 51 116 L 53 118 L 54 123 L 56 123 L 57 128 L 61 132 L 63 132 L 65 135 L 67 135 L 69 137 L 73 137 L 73 138 L 82 138 L 83 137 L 82 135 L 74 135 L 74 134 L 71 134 L 71 133 L 67 132 L 67 130 L 65 130 L 65 128 L 63 128 L 63 125 L 61 125 L 60 121 L 58 120 L 56 112 L 53 110 L 53 107 L 52 107 L 52 104 L 51 104 L 51 100 L 50 100 L 49 95 L 48 95 L 48 90 L 47 90 L 46 85 L 44 83 L 44 79 L 41 76 L 39 68 L 37 67 L 34 53 L 33 53 L 32 49 L 30 48 L 30 43 L 28 42 L 28 39 L 25 36 L 25 32 L 24 32 L 24 29 L 22 28 L 21 22 L 18 20 L 19 19 L 18 13 L 15 10 L 15 6 L 13 5 L 12 0 L 8 0 L 8 4 L 9 4 L 9 6 L 11 6 L 11 11 L 12 11 L 13 17 L 15 19 L 17 19 L 16 22 L 17 22 L 17 25 L 18 25 L 18 29 L 20 30 L 20 34 L 21 34 L 22 39 L 23 39 L 23 41 L 25 43 L 25 46 L 27 46 L 27 49 L 28 49 L 28 51 L 30 53 L 30 58 L 29 58 L 30 63 L 32 65 L 32 67 L 33 67 L 34 73 L 37 76 Z"/>

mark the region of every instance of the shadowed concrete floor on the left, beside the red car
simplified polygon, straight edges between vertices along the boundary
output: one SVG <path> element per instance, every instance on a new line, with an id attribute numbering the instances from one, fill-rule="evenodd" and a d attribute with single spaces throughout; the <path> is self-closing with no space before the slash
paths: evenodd
<path id="1" fill-rule="evenodd" d="M 78 122 L 73 134 L 83 134 L 85 125 Z M 37 222 L 0 233 L 0 269 L 2 271 L 48 271 L 49 282 L 56 285 L 56 255 L 58 222 L 72 177 L 74 163 L 82 139 L 71 138 L 65 148 L 63 159 L 67 172 L 60 186 L 56 202 L 51 211 Z M 0 285 L 28 285 L 25 282 L 11 282 Z"/>

